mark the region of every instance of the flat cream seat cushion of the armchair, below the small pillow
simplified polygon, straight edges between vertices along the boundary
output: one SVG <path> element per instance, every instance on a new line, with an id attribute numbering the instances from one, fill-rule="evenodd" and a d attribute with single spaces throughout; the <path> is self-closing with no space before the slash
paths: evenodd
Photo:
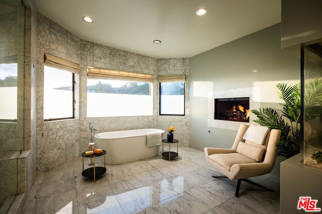
<path id="1" fill-rule="evenodd" d="M 209 155 L 208 158 L 228 171 L 230 171 L 231 166 L 236 163 L 257 163 L 257 161 L 252 158 L 239 153 L 212 154 Z"/>

